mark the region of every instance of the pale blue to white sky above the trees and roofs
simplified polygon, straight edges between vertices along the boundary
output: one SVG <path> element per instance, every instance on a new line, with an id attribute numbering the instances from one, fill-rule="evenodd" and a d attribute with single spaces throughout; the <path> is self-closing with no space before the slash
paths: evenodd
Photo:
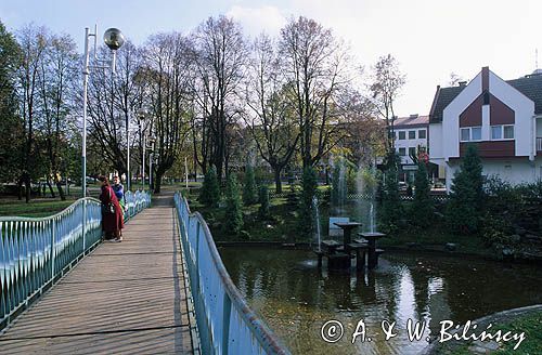
<path id="1" fill-rule="evenodd" d="M 224 14 L 246 36 L 279 36 L 281 27 L 306 16 L 331 28 L 370 70 L 379 56 L 393 55 L 406 83 L 398 116 L 427 115 L 437 86 L 454 73 L 473 79 L 481 67 L 505 80 L 542 66 L 542 1 L 490 0 L 0 0 L 0 21 L 10 31 L 35 23 L 70 34 L 83 52 L 85 27 L 99 35 L 117 27 L 136 44 L 150 35 L 189 34 L 209 16 Z"/>

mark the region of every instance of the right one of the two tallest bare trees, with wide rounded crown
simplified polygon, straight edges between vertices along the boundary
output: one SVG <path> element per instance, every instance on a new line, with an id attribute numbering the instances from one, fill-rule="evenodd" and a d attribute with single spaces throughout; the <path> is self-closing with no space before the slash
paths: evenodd
<path id="1" fill-rule="evenodd" d="M 300 130 L 304 167 L 315 165 L 343 137 L 338 97 L 349 84 L 348 51 L 313 19 L 291 19 L 280 55 Z"/>

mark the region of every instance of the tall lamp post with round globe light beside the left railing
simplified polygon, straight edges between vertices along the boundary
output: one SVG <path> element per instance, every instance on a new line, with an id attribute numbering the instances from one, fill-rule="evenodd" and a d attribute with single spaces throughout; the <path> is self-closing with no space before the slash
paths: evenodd
<path id="1" fill-rule="evenodd" d="M 94 26 L 94 32 L 90 34 L 89 28 L 85 28 L 85 64 L 82 68 L 83 80 L 82 80 L 82 153 L 81 153 L 81 163 L 82 163 L 82 197 L 87 197 L 87 88 L 89 84 L 89 75 L 91 68 L 107 68 L 106 66 L 95 66 L 90 65 L 90 51 L 89 51 L 89 38 L 94 37 L 94 60 L 96 62 L 106 62 L 99 60 L 96 56 L 96 32 L 98 27 Z M 125 37 L 117 28 L 109 28 L 104 34 L 104 42 L 112 50 L 113 60 L 111 62 L 112 73 L 115 73 L 115 60 L 116 51 L 124 44 Z"/>

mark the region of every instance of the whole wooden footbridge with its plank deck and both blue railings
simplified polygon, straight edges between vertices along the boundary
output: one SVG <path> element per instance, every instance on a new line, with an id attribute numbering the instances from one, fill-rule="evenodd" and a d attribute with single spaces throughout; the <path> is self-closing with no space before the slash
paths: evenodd
<path id="1" fill-rule="evenodd" d="M 86 233 L 62 222 L 78 221 L 77 207 L 37 225 L 0 220 L 0 354 L 288 353 L 246 305 L 183 198 L 133 202 L 122 242 L 100 241 L 91 202 Z"/>

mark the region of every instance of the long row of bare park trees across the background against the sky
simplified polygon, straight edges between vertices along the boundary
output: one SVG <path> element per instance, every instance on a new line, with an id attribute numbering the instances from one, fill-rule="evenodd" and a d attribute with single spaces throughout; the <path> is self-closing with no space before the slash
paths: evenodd
<path id="1" fill-rule="evenodd" d="M 385 149 L 382 132 L 404 82 L 397 61 L 384 55 L 361 70 L 348 47 L 313 19 L 293 17 L 276 37 L 248 38 L 225 16 L 188 34 L 151 35 L 140 45 L 126 35 L 115 74 L 91 63 L 90 176 L 117 172 L 142 184 L 147 168 L 159 193 L 165 178 L 205 175 L 212 167 L 222 185 L 249 152 L 281 193 L 286 173 L 326 163 L 339 145 L 357 160 Z M 95 54 L 111 58 L 105 45 Z M 82 60 L 69 35 L 35 24 L 10 32 L 0 23 L 4 193 L 16 186 L 29 202 L 34 186 L 46 184 L 64 199 L 63 181 L 80 184 Z M 145 149 L 151 171 L 142 167 Z M 254 203 L 257 189 L 248 189 L 244 202 Z"/>

